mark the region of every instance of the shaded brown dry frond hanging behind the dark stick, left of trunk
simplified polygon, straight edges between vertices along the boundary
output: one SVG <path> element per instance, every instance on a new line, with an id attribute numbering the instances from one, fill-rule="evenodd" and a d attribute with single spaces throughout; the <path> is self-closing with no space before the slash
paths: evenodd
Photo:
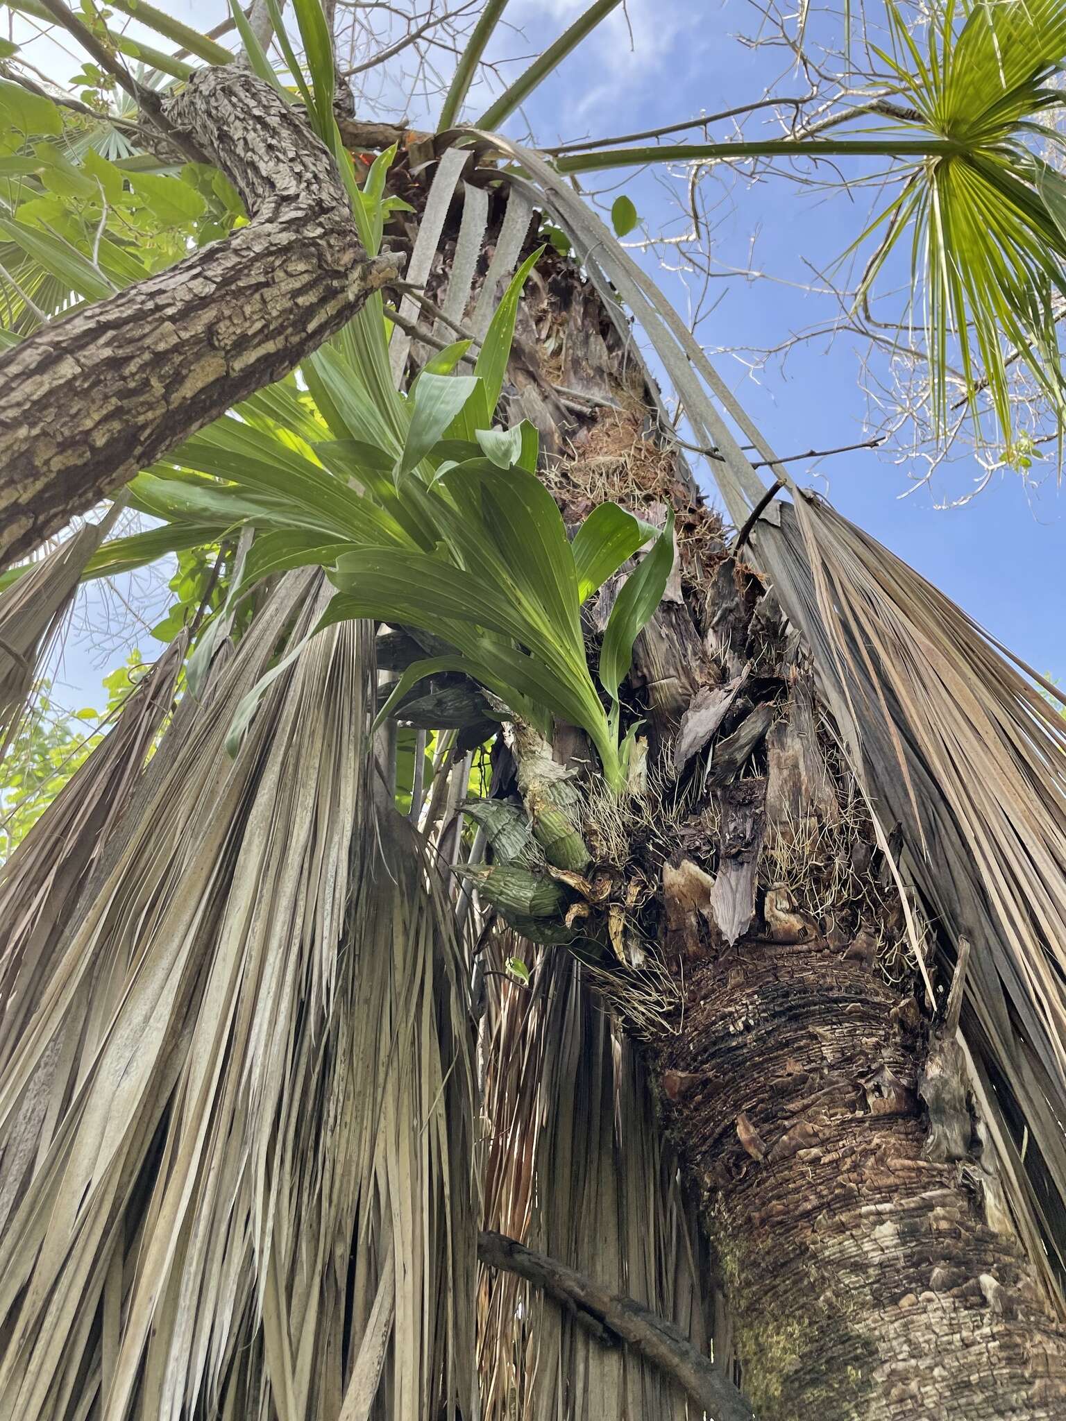
<path id="1" fill-rule="evenodd" d="M 709 1286 L 677 1161 L 638 1056 L 581 968 L 543 951 L 529 990 L 495 995 L 489 1033 L 483 1226 L 594 1270 L 706 1347 Z M 486 1421 L 689 1414 L 657 1371 L 513 1275 L 483 1272 L 479 1323 Z"/>

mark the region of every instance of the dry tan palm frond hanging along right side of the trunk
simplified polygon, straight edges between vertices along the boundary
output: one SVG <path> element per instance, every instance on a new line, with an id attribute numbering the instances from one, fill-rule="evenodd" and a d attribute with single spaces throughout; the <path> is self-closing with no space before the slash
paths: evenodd
<path id="1" fill-rule="evenodd" d="M 1021 1232 L 1060 1296 L 1066 720 L 1040 691 L 1059 692 L 827 504 L 782 513 L 758 533 L 759 554 L 849 759 L 881 831 L 903 826 L 903 868 L 942 939 L 974 944 L 962 1027 Z"/>

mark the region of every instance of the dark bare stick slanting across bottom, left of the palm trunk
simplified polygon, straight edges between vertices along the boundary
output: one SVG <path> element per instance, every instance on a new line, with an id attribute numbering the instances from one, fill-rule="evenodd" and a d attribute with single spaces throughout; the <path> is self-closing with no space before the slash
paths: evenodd
<path id="1" fill-rule="evenodd" d="M 489 1268 L 517 1273 L 567 1309 L 621 1337 L 634 1351 L 665 1373 L 715 1421 L 755 1421 L 750 1405 L 672 1323 L 631 1297 L 611 1293 L 584 1273 L 546 1253 L 536 1253 L 502 1233 L 478 1238 L 478 1258 Z"/>

